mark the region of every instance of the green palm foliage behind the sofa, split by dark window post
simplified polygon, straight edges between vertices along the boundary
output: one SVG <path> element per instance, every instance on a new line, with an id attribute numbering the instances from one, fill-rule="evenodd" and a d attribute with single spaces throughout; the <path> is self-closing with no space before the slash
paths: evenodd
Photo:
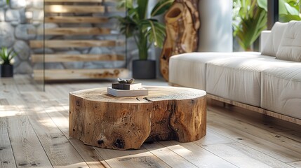
<path id="1" fill-rule="evenodd" d="M 244 50 L 250 50 L 252 43 L 266 28 L 267 0 L 234 0 L 234 36 Z M 300 0 L 279 0 L 279 21 L 301 20 Z"/>

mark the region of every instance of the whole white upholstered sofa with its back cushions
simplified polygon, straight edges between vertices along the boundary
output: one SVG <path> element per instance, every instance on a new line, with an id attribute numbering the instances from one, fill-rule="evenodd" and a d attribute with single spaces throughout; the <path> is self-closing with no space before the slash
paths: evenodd
<path id="1" fill-rule="evenodd" d="M 170 57 L 169 83 L 301 124 L 301 22 L 263 31 L 262 52 L 192 52 Z"/>

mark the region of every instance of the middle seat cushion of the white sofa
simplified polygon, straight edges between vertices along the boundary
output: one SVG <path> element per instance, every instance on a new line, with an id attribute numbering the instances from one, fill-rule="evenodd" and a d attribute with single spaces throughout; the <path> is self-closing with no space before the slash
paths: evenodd
<path id="1" fill-rule="evenodd" d="M 265 55 L 210 61 L 206 66 L 206 92 L 260 106 L 261 72 L 270 67 L 280 67 L 282 62 Z"/>

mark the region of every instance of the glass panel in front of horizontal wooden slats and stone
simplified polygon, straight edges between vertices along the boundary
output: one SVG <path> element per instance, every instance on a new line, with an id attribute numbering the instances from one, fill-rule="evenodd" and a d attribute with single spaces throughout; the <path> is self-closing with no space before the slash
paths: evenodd
<path id="1" fill-rule="evenodd" d="M 44 76 L 48 81 L 125 78 L 126 38 L 118 31 L 117 1 L 45 0 Z M 42 31 L 41 31 L 42 32 Z"/>

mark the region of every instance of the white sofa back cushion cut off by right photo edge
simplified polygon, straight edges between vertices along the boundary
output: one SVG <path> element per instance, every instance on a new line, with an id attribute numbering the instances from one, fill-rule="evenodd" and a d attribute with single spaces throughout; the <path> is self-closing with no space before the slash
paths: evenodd
<path id="1" fill-rule="evenodd" d="M 288 23 L 282 36 L 277 59 L 293 62 L 301 62 L 301 22 L 291 21 Z"/>

